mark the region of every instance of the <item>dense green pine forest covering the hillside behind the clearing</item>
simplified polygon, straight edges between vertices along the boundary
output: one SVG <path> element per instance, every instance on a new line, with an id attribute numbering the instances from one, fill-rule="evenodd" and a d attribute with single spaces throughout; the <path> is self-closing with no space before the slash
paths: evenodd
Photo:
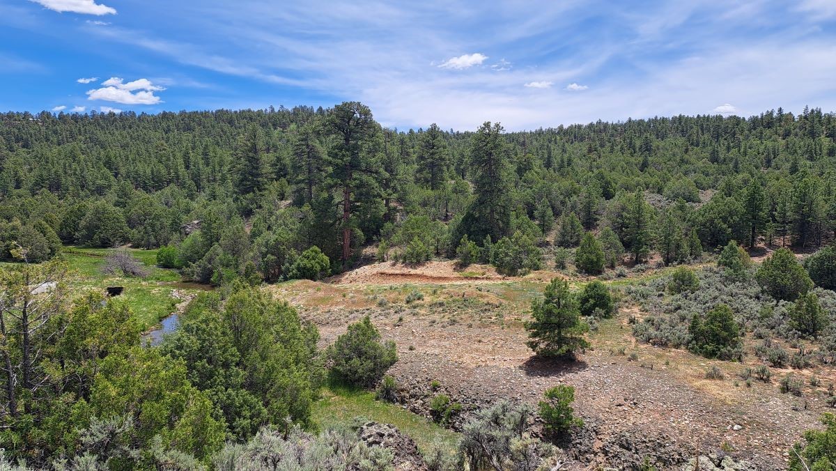
<path id="1" fill-rule="evenodd" d="M 561 245 L 594 230 L 635 262 L 681 258 L 692 233 L 706 249 L 760 238 L 812 249 L 836 230 L 834 139 L 833 114 L 818 109 L 507 134 L 385 129 L 359 103 L 8 113 L 0 234 L 3 257 L 15 242 L 32 261 L 60 242 L 171 245 L 167 263 L 216 284 L 287 278 L 314 246 L 337 271 L 375 241 L 381 257 L 417 261 L 455 254 L 465 235 L 538 243 L 555 221 Z"/>

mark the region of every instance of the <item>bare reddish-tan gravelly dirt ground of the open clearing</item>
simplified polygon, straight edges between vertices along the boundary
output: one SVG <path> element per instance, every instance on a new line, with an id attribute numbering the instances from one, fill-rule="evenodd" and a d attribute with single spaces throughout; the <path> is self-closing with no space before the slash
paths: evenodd
<path id="1" fill-rule="evenodd" d="M 741 365 L 636 344 L 628 319 L 641 313 L 630 305 L 599 324 L 590 334 L 593 347 L 578 361 L 538 361 L 525 345 L 523 320 L 552 276 L 558 275 L 502 278 L 484 266 L 459 272 L 449 262 L 385 263 L 324 283 L 294 281 L 269 289 L 319 326 L 324 345 L 370 315 L 398 346 L 390 374 L 414 392 L 410 408 L 416 412 L 426 411 L 428 396 L 436 393 L 432 381 L 466 411 L 502 398 L 536 403 L 549 387 L 572 385 L 575 410 L 592 432 L 586 433 L 592 437 L 584 443 L 586 456 L 574 457 L 585 462 L 576 468 L 619 463 L 619 453 L 680 453 L 675 458 L 685 459 L 722 449 L 755 468 L 782 469 L 788 448 L 828 409 L 824 388 L 836 379 L 833 371 L 804 371 L 824 379 L 818 391 L 807 387 L 804 397 L 778 391 L 777 378 L 786 371 L 773 369 L 771 383 L 747 387 L 736 375 L 754 365 L 752 356 Z M 573 280 L 576 286 L 582 282 Z M 613 286 L 629 282 L 619 279 Z M 706 379 L 712 365 L 725 379 Z"/>

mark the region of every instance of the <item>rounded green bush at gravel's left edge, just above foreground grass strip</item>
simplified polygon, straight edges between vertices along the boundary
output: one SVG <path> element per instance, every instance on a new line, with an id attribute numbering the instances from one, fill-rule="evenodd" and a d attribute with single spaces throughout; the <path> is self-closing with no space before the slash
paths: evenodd
<path id="1" fill-rule="evenodd" d="M 381 341 L 369 316 L 349 325 L 349 330 L 328 347 L 326 356 L 340 379 L 355 386 L 372 386 L 395 364 L 395 342 Z"/>

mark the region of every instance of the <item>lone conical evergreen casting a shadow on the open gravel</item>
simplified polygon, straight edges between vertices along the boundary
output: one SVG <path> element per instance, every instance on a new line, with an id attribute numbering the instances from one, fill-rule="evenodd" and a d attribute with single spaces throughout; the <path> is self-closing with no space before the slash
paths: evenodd
<path id="1" fill-rule="evenodd" d="M 589 346 L 584 334 L 589 325 L 580 319 L 578 301 L 569 293 L 568 283 L 553 279 L 544 299 L 532 303 L 533 320 L 526 322 L 528 348 L 546 357 L 573 356 Z"/>

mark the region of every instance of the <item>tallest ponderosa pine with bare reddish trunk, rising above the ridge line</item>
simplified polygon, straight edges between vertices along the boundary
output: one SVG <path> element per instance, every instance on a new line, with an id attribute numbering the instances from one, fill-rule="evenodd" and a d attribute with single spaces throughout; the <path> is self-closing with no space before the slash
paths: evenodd
<path id="1" fill-rule="evenodd" d="M 339 187 L 343 194 L 343 268 L 349 266 L 351 258 L 351 234 L 354 231 L 352 215 L 353 197 L 359 187 L 375 186 L 377 172 L 375 156 L 368 149 L 370 141 L 378 131 L 377 124 L 368 106 L 359 101 L 346 101 L 334 106 L 329 116 L 329 128 L 334 133 L 334 145 L 329 151 L 331 185 Z"/>

